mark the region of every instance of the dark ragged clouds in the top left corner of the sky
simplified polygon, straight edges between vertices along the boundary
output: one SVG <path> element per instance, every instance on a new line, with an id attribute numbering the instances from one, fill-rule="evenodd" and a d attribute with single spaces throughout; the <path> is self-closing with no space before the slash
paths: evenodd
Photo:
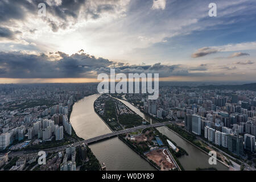
<path id="1" fill-rule="evenodd" d="M 53 1 L 48 4 L 46 0 L 1 0 L 0 23 L 10 24 L 11 20 L 26 20 L 31 14 L 38 14 L 39 3 L 46 4 L 47 16 L 43 17 L 53 32 L 60 28 L 65 29 L 75 24 L 82 13 L 85 19 L 98 19 L 102 13 L 115 12 L 118 0 L 63 0 L 60 4 Z M 93 4 L 93 5 L 92 5 Z M 54 17 L 54 18 L 52 18 Z"/>

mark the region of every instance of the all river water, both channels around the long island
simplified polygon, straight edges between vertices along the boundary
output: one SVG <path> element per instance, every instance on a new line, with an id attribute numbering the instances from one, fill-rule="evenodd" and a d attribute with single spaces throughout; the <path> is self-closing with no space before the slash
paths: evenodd
<path id="1" fill-rule="evenodd" d="M 97 137 L 99 135 L 111 133 L 111 130 L 106 124 L 98 117 L 94 112 L 93 103 L 100 96 L 94 94 L 88 96 L 76 102 L 73 106 L 71 113 L 71 123 L 76 131 L 76 134 L 84 139 Z M 122 101 L 123 104 L 130 107 L 131 110 L 135 111 L 138 115 L 144 118 L 146 121 L 154 123 L 154 119 L 151 119 L 147 115 L 144 115 L 137 107 L 131 105 L 127 101 Z M 188 156 L 182 156 L 179 158 L 180 163 L 185 170 L 195 170 L 196 168 L 208 168 L 215 167 L 218 170 L 228 170 L 226 166 L 221 163 L 210 166 L 208 163 L 209 157 L 201 152 L 198 148 L 192 146 L 178 135 L 168 130 L 166 127 L 159 127 L 158 130 L 172 139 L 176 144 L 184 148 L 188 152 Z M 138 154 L 131 150 L 125 143 L 118 138 L 112 138 L 103 142 L 91 144 L 94 155 L 101 163 L 105 163 L 108 170 L 155 170 L 146 160 L 142 159 Z"/>

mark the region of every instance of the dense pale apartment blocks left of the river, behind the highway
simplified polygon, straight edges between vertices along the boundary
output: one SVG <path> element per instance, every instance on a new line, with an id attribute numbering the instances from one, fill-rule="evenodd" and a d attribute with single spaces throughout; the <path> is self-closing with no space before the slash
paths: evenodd
<path id="1" fill-rule="evenodd" d="M 0 85 L 0 150 L 24 140 L 71 135 L 71 106 L 95 92 L 86 84 Z"/>

